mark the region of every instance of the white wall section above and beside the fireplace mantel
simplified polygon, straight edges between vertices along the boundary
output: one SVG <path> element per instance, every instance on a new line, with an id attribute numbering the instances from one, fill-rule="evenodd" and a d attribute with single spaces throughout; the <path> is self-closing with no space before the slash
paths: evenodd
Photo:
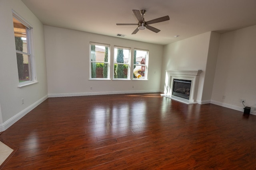
<path id="1" fill-rule="evenodd" d="M 202 101 L 211 32 L 164 46 L 161 90 L 166 89 L 166 70 L 203 70 L 198 81 L 197 101 Z"/>

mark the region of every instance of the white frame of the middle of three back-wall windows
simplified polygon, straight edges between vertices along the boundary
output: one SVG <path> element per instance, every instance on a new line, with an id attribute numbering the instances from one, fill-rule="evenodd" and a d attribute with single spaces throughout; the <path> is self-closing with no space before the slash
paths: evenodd
<path id="1" fill-rule="evenodd" d="M 131 47 L 122 47 L 122 46 L 118 46 L 118 45 L 114 45 L 114 56 L 115 56 L 115 49 L 125 49 L 125 50 L 129 50 L 129 55 L 128 55 L 128 62 L 127 63 L 117 63 L 115 62 L 115 57 L 113 59 L 113 80 L 131 80 L 130 78 L 130 68 L 131 68 Z M 127 68 L 127 78 L 115 78 L 115 64 L 123 64 L 123 65 L 128 65 Z"/>

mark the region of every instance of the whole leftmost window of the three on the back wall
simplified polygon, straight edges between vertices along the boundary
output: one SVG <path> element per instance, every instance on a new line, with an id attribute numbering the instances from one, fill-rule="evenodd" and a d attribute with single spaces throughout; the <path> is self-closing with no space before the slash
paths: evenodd
<path id="1" fill-rule="evenodd" d="M 90 79 L 109 79 L 109 46 L 90 42 Z"/>

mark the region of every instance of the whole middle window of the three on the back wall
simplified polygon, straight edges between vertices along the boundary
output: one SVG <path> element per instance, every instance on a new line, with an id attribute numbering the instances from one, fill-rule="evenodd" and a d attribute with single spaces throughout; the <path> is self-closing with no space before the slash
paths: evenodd
<path id="1" fill-rule="evenodd" d="M 130 79 L 130 48 L 114 47 L 114 79 Z"/>

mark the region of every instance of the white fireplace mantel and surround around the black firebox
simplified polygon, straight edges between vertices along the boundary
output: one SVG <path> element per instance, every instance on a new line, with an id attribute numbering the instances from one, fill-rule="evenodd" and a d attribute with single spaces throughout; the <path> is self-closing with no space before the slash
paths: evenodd
<path id="1" fill-rule="evenodd" d="M 166 91 L 163 96 L 178 100 L 186 104 L 196 104 L 196 94 L 198 89 L 198 79 L 202 70 L 166 70 Z M 174 82 L 189 82 L 190 89 L 188 86 L 179 86 L 178 90 L 174 89 Z M 174 93 L 173 93 L 174 91 Z M 187 95 L 176 95 L 175 91 L 183 92 Z"/>

